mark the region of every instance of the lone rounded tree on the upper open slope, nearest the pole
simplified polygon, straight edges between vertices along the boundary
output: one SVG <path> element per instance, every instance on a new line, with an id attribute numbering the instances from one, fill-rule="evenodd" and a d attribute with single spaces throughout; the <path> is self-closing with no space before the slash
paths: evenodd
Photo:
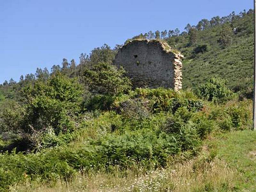
<path id="1" fill-rule="evenodd" d="M 222 25 L 219 36 L 220 38 L 218 42 L 220 43 L 222 48 L 226 48 L 228 45 L 232 43 L 232 28 L 228 24 Z"/>

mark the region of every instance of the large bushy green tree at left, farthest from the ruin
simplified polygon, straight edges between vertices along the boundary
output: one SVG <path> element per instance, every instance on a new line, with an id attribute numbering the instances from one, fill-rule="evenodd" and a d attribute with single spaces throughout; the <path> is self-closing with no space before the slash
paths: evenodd
<path id="1" fill-rule="evenodd" d="M 80 111 L 82 86 L 56 73 L 46 84 L 37 81 L 27 91 L 27 122 L 35 130 L 52 126 L 55 134 L 74 129 L 71 118 Z"/>

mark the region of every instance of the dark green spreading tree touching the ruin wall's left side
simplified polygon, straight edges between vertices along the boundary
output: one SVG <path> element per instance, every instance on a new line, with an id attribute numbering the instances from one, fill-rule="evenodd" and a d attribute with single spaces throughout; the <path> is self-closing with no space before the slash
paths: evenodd
<path id="1" fill-rule="evenodd" d="M 111 64 L 99 63 L 84 71 L 84 80 L 94 93 L 117 96 L 131 89 L 130 79 L 123 75 L 123 68 L 116 69 Z"/>

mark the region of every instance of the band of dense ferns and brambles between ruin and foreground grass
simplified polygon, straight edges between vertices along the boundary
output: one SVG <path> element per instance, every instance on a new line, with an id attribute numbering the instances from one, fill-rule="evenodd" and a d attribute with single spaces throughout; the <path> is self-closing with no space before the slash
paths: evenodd
<path id="1" fill-rule="evenodd" d="M 165 167 L 172 156 L 192 158 L 212 131 L 243 130 L 251 123 L 250 100 L 215 105 L 192 92 L 136 89 L 116 97 L 111 110 L 85 112 L 75 139 L 40 152 L 0 155 L 0 186 L 70 181 L 77 174 Z"/>

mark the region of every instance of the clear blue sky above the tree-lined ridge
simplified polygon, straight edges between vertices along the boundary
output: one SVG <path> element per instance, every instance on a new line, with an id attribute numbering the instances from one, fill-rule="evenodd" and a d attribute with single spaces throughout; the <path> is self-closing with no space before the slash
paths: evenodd
<path id="1" fill-rule="evenodd" d="M 50 71 L 62 58 L 78 63 L 104 43 L 250 8 L 252 0 L 1 0 L 0 84 L 37 67 Z"/>

